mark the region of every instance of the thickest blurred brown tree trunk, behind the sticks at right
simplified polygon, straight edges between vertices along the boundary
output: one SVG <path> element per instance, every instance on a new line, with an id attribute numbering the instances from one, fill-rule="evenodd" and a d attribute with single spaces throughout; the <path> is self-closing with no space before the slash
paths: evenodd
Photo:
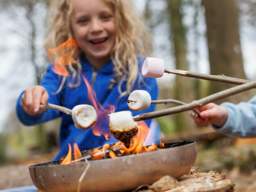
<path id="1" fill-rule="evenodd" d="M 202 0 L 205 7 L 210 70 L 212 75 L 224 74 L 246 79 L 240 46 L 238 9 L 234 0 Z M 233 87 L 226 83 L 211 82 L 209 94 Z M 248 100 L 247 93 L 219 100 L 238 103 Z"/>

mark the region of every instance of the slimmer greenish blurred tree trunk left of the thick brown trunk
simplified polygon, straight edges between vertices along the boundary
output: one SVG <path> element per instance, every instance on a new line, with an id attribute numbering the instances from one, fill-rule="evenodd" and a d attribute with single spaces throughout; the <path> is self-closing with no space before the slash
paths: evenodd
<path id="1" fill-rule="evenodd" d="M 171 40 L 174 47 L 176 59 L 176 69 L 188 70 L 188 61 L 186 60 L 186 37 L 185 28 L 182 24 L 181 0 L 167 0 L 167 12 L 170 15 L 169 23 L 171 28 Z M 193 83 L 190 78 L 177 76 L 174 88 L 175 99 L 190 103 L 195 99 Z M 176 129 L 185 130 L 195 127 L 188 112 L 175 114 Z"/>

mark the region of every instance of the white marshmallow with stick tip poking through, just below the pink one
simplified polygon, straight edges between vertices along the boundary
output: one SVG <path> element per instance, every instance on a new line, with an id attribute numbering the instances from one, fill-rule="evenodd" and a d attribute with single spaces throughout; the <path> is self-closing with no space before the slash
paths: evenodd
<path id="1" fill-rule="evenodd" d="M 134 111 L 148 109 L 151 105 L 151 96 L 145 90 L 134 90 L 128 97 L 127 105 Z"/>

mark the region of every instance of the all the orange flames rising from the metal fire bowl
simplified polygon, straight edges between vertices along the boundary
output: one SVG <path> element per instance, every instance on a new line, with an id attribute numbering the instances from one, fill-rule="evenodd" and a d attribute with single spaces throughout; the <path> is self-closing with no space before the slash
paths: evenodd
<path id="1" fill-rule="evenodd" d="M 54 67 L 52 70 L 62 76 L 70 76 L 68 73 L 68 70 L 66 66 L 71 65 L 72 63 L 76 63 L 79 60 L 76 60 L 76 57 L 79 55 L 79 47 L 75 40 L 72 38 L 68 38 L 66 42 L 61 44 L 60 46 L 50 49 L 47 47 L 47 51 L 49 54 L 49 59 L 54 61 Z M 96 93 L 94 92 L 93 88 L 90 86 L 90 83 L 88 80 L 82 75 L 84 82 L 87 87 L 88 91 L 88 98 L 90 103 L 94 106 L 96 112 L 97 112 L 97 121 L 96 123 L 91 127 L 92 132 L 96 136 L 103 135 L 106 140 L 110 139 L 110 132 L 108 129 L 104 129 L 106 125 L 109 124 L 109 117 L 108 114 L 114 113 L 115 107 L 113 105 L 107 105 L 102 106 L 98 100 Z M 162 138 L 163 136 L 161 136 Z M 134 136 L 131 140 L 131 144 L 129 148 L 126 148 L 122 142 L 116 143 L 116 145 L 109 148 L 108 144 L 105 144 L 101 150 L 94 149 L 91 152 L 92 159 L 102 159 L 103 156 L 108 153 L 109 157 L 115 158 L 119 156 L 119 154 L 138 154 L 141 152 L 148 152 L 152 150 L 158 150 L 157 145 L 152 143 L 151 146 L 146 147 L 145 143 L 149 143 L 150 139 L 152 139 L 153 136 L 150 137 L 149 134 L 149 128 L 147 124 L 144 121 L 138 122 L 138 133 L 136 136 Z M 73 162 L 78 162 L 78 159 L 82 157 L 82 154 L 75 143 L 74 148 L 74 160 L 72 160 L 72 152 L 71 152 L 71 145 L 68 144 L 69 150 L 66 158 L 61 162 L 61 164 L 68 164 Z M 118 152 L 114 151 L 116 150 L 117 146 L 119 146 Z M 121 147 L 120 147 L 121 146 Z M 163 147 L 163 142 L 160 142 L 160 146 Z"/>

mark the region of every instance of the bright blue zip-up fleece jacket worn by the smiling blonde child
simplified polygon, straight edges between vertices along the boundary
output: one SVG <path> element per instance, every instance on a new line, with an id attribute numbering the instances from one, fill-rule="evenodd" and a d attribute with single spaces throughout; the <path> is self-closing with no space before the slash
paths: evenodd
<path id="1" fill-rule="evenodd" d="M 142 63 L 144 60 L 145 58 L 138 57 L 139 71 L 141 71 Z M 86 60 L 86 58 L 81 57 L 80 62 L 82 65 L 82 74 L 90 82 L 92 80 L 93 72 L 95 74 L 95 70 Z M 91 104 L 88 100 L 87 87 L 82 77 L 80 85 L 78 87 L 72 88 L 69 87 L 68 84 L 77 82 L 77 79 L 75 79 L 74 81 L 72 77 L 68 77 L 62 90 L 59 93 L 55 94 L 55 92 L 60 87 L 62 78 L 58 74 L 54 73 L 51 67 L 52 66 L 49 66 L 47 68 L 46 74 L 44 75 L 40 83 L 40 85 L 45 87 L 45 89 L 49 93 L 48 103 L 61 105 L 69 109 L 72 109 L 74 106 L 79 104 Z M 103 108 L 107 108 L 107 105 L 111 104 L 115 106 L 115 112 L 129 110 L 132 112 L 133 116 L 141 113 L 154 111 L 155 105 L 151 105 L 149 109 L 143 111 L 130 110 L 126 102 L 129 95 L 125 95 L 121 99 L 118 99 L 120 95 L 118 92 L 118 83 L 115 84 L 115 86 L 112 89 L 109 89 L 110 79 L 112 79 L 115 74 L 113 72 L 113 67 L 114 64 L 112 61 L 107 62 L 99 71 L 97 71 L 97 76 L 95 78 L 95 81 L 93 82 L 93 89 L 96 93 L 99 103 L 103 106 Z M 146 90 L 150 93 L 151 99 L 156 100 L 158 95 L 156 80 L 154 78 L 141 78 L 143 79 L 143 81 L 141 81 L 139 77 L 136 79 L 133 90 Z M 122 84 L 121 90 L 126 90 L 126 82 Z M 50 121 L 52 119 L 56 119 L 58 117 L 62 117 L 59 133 L 60 152 L 57 154 L 54 160 L 60 159 L 60 157 L 67 154 L 68 143 L 76 142 L 78 144 L 79 149 L 82 151 L 102 146 L 105 143 L 113 143 L 118 141 L 112 135 L 109 141 L 106 141 L 104 136 L 95 136 L 91 128 L 88 130 L 77 129 L 74 126 L 71 116 L 67 116 L 66 114 L 56 110 L 49 109 L 47 112 L 31 116 L 22 109 L 20 102 L 21 96 L 19 97 L 17 102 L 16 114 L 18 119 L 24 125 L 40 124 L 46 121 Z M 151 120 L 146 120 L 145 122 L 147 123 L 148 126 L 150 126 Z M 109 132 L 108 122 L 101 124 L 100 127 L 101 129 Z M 160 132 L 159 127 L 157 132 Z M 159 137 L 156 136 L 156 138 Z M 157 140 L 155 140 L 154 142 L 156 143 Z"/>

